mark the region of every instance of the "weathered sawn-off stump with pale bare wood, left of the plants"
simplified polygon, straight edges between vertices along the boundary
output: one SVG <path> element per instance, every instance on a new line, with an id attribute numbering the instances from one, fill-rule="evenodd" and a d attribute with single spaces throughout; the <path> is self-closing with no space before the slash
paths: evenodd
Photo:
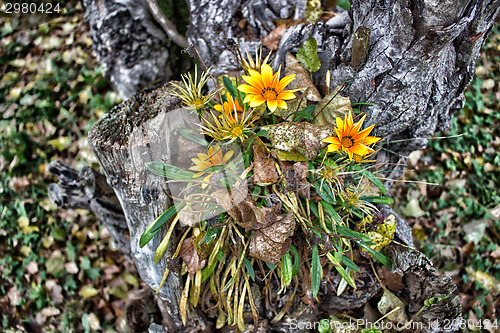
<path id="1" fill-rule="evenodd" d="M 151 221 L 169 207 L 171 200 L 164 178 L 149 172 L 145 163 L 168 163 L 172 156 L 168 147 L 177 119 L 167 118 L 166 114 L 180 107 L 180 99 L 170 96 L 170 91 L 170 85 L 165 84 L 134 95 L 103 116 L 89 132 L 90 146 L 123 207 L 130 232 L 131 256 L 141 278 L 153 290 L 158 289 L 166 268 L 165 261 L 154 263 L 154 251 L 165 230 L 143 248 L 139 247 L 139 239 Z M 177 237 L 172 236 L 166 257 L 172 255 Z M 169 274 L 158 293 L 175 330 L 181 327 L 181 292 L 179 276 Z M 209 329 L 196 310 L 189 309 L 189 312 L 188 331 Z"/>

